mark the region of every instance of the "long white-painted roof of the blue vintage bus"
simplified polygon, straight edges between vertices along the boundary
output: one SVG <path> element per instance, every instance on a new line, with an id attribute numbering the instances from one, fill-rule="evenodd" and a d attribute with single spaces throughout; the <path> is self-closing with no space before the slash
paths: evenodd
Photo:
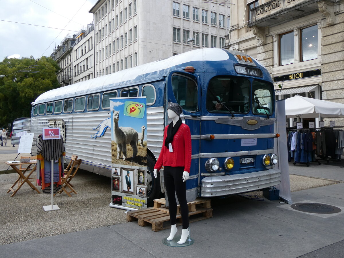
<path id="1" fill-rule="evenodd" d="M 38 96 L 33 105 L 47 101 L 101 92 L 104 90 L 111 90 L 117 88 L 120 85 L 135 82 L 139 83 L 140 81 L 144 81 L 149 78 L 156 79 L 167 75 L 171 70 L 185 67 L 189 65 L 188 63 L 194 61 L 225 61 L 228 60 L 230 56 L 232 56 L 229 55 L 229 52 L 234 51 L 226 51 L 224 49 L 217 48 L 204 48 L 188 51 L 163 60 L 143 64 L 116 73 L 89 79 L 84 82 L 79 82 L 61 88 L 49 90 Z M 234 57 L 235 53 L 232 54 Z M 149 74 L 149 76 L 147 76 L 147 74 Z"/>

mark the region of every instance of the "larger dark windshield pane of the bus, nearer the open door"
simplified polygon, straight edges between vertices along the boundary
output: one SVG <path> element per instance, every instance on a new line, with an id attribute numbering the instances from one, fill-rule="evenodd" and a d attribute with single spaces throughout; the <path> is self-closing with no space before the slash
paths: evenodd
<path id="1" fill-rule="evenodd" d="M 250 82 L 238 77 L 214 77 L 210 80 L 206 108 L 212 113 L 247 114 L 250 109 Z"/>

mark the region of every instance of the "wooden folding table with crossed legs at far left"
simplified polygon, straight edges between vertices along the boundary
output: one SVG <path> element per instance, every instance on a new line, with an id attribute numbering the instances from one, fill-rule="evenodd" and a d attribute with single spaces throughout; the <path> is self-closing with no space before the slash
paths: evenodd
<path id="1" fill-rule="evenodd" d="M 9 192 L 13 192 L 13 194 L 11 195 L 11 197 L 13 197 L 17 192 L 18 190 L 20 189 L 20 187 L 22 187 L 22 185 L 24 183 L 28 183 L 30 185 L 30 187 L 33 189 L 33 190 L 36 190 L 37 193 L 41 193 L 30 181 L 29 181 L 29 177 L 30 175 L 36 171 L 36 166 L 37 166 L 37 161 L 33 160 L 31 162 L 8 162 L 6 161 L 5 162 L 7 165 L 9 165 L 12 169 L 14 169 L 15 172 L 18 173 L 19 175 L 19 178 L 17 179 L 17 181 L 15 181 L 15 183 L 9 188 L 9 190 L 7 191 L 7 193 Z M 20 171 L 19 169 L 19 165 L 28 165 L 27 168 L 25 168 L 25 170 Z M 31 168 L 31 166 L 34 165 L 33 168 Z M 26 173 L 26 174 L 25 174 Z M 19 186 L 16 190 L 13 189 L 13 187 L 20 181 L 20 179 L 22 179 L 23 181 L 19 183 Z"/>

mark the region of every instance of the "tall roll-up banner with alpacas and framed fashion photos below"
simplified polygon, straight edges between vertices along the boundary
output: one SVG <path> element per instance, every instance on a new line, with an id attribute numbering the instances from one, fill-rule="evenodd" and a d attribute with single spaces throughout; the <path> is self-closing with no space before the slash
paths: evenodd
<path id="1" fill-rule="evenodd" d="M 146 97 L 110 98 L 111 203 L 122 209 L 147 208 Z"/>

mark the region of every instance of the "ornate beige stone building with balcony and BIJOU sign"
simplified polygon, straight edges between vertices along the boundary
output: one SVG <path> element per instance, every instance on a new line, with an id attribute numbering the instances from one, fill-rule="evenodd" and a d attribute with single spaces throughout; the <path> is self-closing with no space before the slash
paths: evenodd
<path id="1" fill-rule="evenodd" d="M 343 0 L 231 2 L 228 47 L 267 67 L 276 99 L 299 94 L 344 103 Z M 319 126 L 319 119 L 304 120 L 304 126 L 309 121 Z M 331 120 L 344 126 L 343 118 L 322 120 L 325 126 Z"/>

